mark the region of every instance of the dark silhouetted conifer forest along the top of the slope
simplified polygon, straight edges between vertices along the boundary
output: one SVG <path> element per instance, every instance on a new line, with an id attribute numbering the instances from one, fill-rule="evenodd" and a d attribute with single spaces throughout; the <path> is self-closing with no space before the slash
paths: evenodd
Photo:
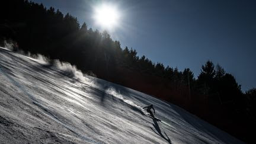
<path id="1" fill-rule="evenodd" d="M 154 95 L 244 142 L 254 141 L 256 89 L 242 92 L 235 77 L 219 64 L 199 63 L 196 78 L 189 68 L 178 70 L 139 57 L 106 31 L 92 30 L 58 9 L 21 0 L 1 1 L 0 7 L 1 46 L 15 41 L 25 52 L 69 62 L 84 73 Z"/>

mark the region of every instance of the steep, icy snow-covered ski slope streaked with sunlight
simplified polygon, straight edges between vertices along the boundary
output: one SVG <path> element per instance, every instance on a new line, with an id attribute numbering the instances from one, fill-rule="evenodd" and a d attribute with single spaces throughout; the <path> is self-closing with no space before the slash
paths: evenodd
<path id="1" fill-rule="evenodd" d="M 0 143 L 242 143 L 175 105 L 71 70 L 0 49 Z"/>

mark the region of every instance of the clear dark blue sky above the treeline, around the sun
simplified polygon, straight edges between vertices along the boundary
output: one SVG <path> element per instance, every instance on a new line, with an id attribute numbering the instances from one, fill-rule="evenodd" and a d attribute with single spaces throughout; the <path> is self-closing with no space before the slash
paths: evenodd
<path id="1" fill-rule="evenodd" d="M 196 78 L 212 60 L 235 76 L 243 91 L 256 87 L 256 1 L 33 1 L 69 12 L 94 30 L 103 30 L 92 18 L 94 7 L 107 2 L 120 11 L 118 27 L 108 32 L 122 47 L 180 71 L 190 68 Z"/>

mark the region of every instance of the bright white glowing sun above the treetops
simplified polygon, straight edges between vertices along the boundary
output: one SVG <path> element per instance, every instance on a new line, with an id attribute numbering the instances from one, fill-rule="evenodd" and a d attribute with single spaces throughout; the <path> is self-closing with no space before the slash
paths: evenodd
<path id="1" fill-rule="evenodd" d="M 114 28 L 119 24 L 120 12 L 113 5 L 101 5 L 94 8 L 94 20 L 103 28 Z"/>

